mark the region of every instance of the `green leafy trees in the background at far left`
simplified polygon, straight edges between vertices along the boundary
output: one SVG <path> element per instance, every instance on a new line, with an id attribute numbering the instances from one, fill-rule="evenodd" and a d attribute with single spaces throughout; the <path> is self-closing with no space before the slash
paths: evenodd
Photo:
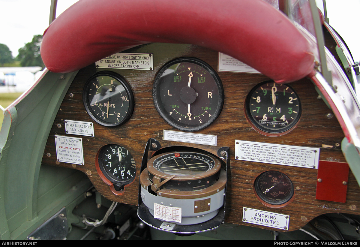
<path id="1" fill-rule="evenodd" d="M 15 58 L 13 58 L 12 52 L 7 45 L 0 44 L 0 67 L 4 67 L 4 64 L 12 64 L 19 61 L 22 67 L 41 66 L 45 68 L 40 56 L 41 41 L 42 35 L 34 35 L 31 42 L 28 42 L 19 49 L 19 54 Z"/>

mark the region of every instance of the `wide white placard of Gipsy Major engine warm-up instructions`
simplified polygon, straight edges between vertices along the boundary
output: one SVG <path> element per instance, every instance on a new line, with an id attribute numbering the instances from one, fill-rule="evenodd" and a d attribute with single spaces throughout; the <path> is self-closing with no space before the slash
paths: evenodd
<path id="1" fill-rule="evenodd" d="M 235 160 L 318 169 L 320 148 L 235 140 Z"/>

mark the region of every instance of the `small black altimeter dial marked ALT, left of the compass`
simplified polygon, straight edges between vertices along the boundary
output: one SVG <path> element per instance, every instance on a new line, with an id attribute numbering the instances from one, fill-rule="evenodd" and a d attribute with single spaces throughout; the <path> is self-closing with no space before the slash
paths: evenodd
<path id="1" fill-rule="evenodd" d="M 112 183 L 130 184 L 136 176 L 135 160 L 124 147 L 116 144 L 105 145 L 99 152 L 99 167 Z"/>

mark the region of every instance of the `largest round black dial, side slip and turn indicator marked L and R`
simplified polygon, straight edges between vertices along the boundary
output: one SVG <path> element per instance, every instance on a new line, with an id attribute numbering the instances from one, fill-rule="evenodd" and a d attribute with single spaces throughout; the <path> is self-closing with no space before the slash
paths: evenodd
<path id="1" fill-rule="evenodd" d="M 175 59 L 158 72 L 153 87 L 154 104 L 170 125 L 197 131 L 213 123 L 224 103 L 219 76 L 195 58 Z"/>

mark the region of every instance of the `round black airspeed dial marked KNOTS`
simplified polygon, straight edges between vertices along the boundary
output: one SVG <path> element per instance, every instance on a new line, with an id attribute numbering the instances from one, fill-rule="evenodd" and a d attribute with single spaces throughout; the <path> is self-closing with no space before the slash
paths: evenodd
<path id="1" fill-rule="evenodd" d="M 134 111 L 134 96 L 125 78 L 111 71 L 96 73 L 83 93 L 87 113 L 104 126 L 125 123 Z"/>

